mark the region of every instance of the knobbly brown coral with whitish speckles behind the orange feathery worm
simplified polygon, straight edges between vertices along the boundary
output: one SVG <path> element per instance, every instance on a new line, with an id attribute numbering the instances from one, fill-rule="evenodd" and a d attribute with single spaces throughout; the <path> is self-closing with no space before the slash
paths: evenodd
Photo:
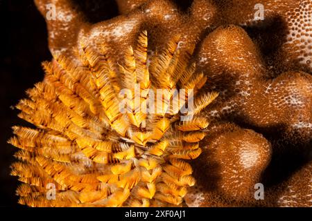
<path id="1" fill-rule="evenodd" d="M 188 7 L 180 7 L 185 1 L 116 1 L 121 15 L 95 24 L 71 1 L 35 2 L 44 17 L 46 5 L 55 5 L 58 16 L 46 19 L 55 59 L 83 63 L 80 44 L 105 42 L 107 57 L 126 65 L 125 48 L 142 30 L 148 55 L 176 36 L 182 54 L 196 46 L 195 73 L 205 73 L 206 93 L 219 96 L 204 110 L 211 124 L 192 163 L 197 182 L 187 205 L 312 206 L 311 0 L 194 0 Z M 263 20 L 255 19 L 258 3 Z M 264 200 L 254 198 L 258 183 Z"/>

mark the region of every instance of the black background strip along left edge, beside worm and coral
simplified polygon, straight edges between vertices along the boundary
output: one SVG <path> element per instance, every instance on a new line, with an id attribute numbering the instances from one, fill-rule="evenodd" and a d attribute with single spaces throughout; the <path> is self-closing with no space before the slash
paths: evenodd
<path id="1" fill-rule="evenodd" d="M 12 136 L 10 128 L 23 122 L 12 107 L 43 79 L 41 62 L 51 54 L 44 19 L 33 1 L 0 1 L 0 16 L 0 206 L 17 206 L 17 179 L 9 175 L 17 148 L 6 141 Z"/>

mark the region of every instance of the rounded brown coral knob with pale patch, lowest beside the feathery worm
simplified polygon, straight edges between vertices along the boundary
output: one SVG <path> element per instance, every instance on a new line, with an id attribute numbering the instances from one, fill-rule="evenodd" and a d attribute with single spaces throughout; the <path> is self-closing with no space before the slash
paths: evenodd
<path id="1" fill-rule="evenodd" d="M 254 185 L 260 182 L 261 173 L 270 162 L 270 143 L 259 133 L 233 124 L 217 126 L 205 137 L 206 142 L 207 151 L 193 163 L 197 184 L 189 191 L 187 204 L 254 203 Z"/>

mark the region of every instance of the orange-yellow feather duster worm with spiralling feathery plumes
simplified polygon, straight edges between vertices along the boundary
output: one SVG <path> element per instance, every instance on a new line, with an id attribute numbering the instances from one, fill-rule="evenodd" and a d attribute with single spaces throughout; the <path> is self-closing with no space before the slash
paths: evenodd
<path id="1" fill-rule="evenodd" d="M 148 38 L 142 32 L 137 48 L 128 47 L 116 72 L 105 44 L 81 41 L 80 61 L 55 57 L 43 64 L 44 81 L 28 90 L 17 108 L 19 117 L 36 128 L 15 126 L 10 144 L 21 150 L 12 175 L 21 182 L 19 203 L 29 206 L 171 206 L 182 203 L 193 186 L 187 160 L 200 155 L 199 142 L 209 124 L 200 114 L 217 93 L 200 93 L 206 78 L 189 64 L 193 49 L 180 52 L 174 37 L 148 60 Z M 137 111 L 135 86 L 148 93 L 166 89 L 155 113 Z M 120 92 L 127 111 L 121 113 Z M 181 121 L 174 89 L 193 90 L 193 118 Z M 152 104 L 148 103 L 149 106 Z M 187 115 L 184 114 L 184 117 Z M 53 184 L 55 198 L 46 198 Z"/>

